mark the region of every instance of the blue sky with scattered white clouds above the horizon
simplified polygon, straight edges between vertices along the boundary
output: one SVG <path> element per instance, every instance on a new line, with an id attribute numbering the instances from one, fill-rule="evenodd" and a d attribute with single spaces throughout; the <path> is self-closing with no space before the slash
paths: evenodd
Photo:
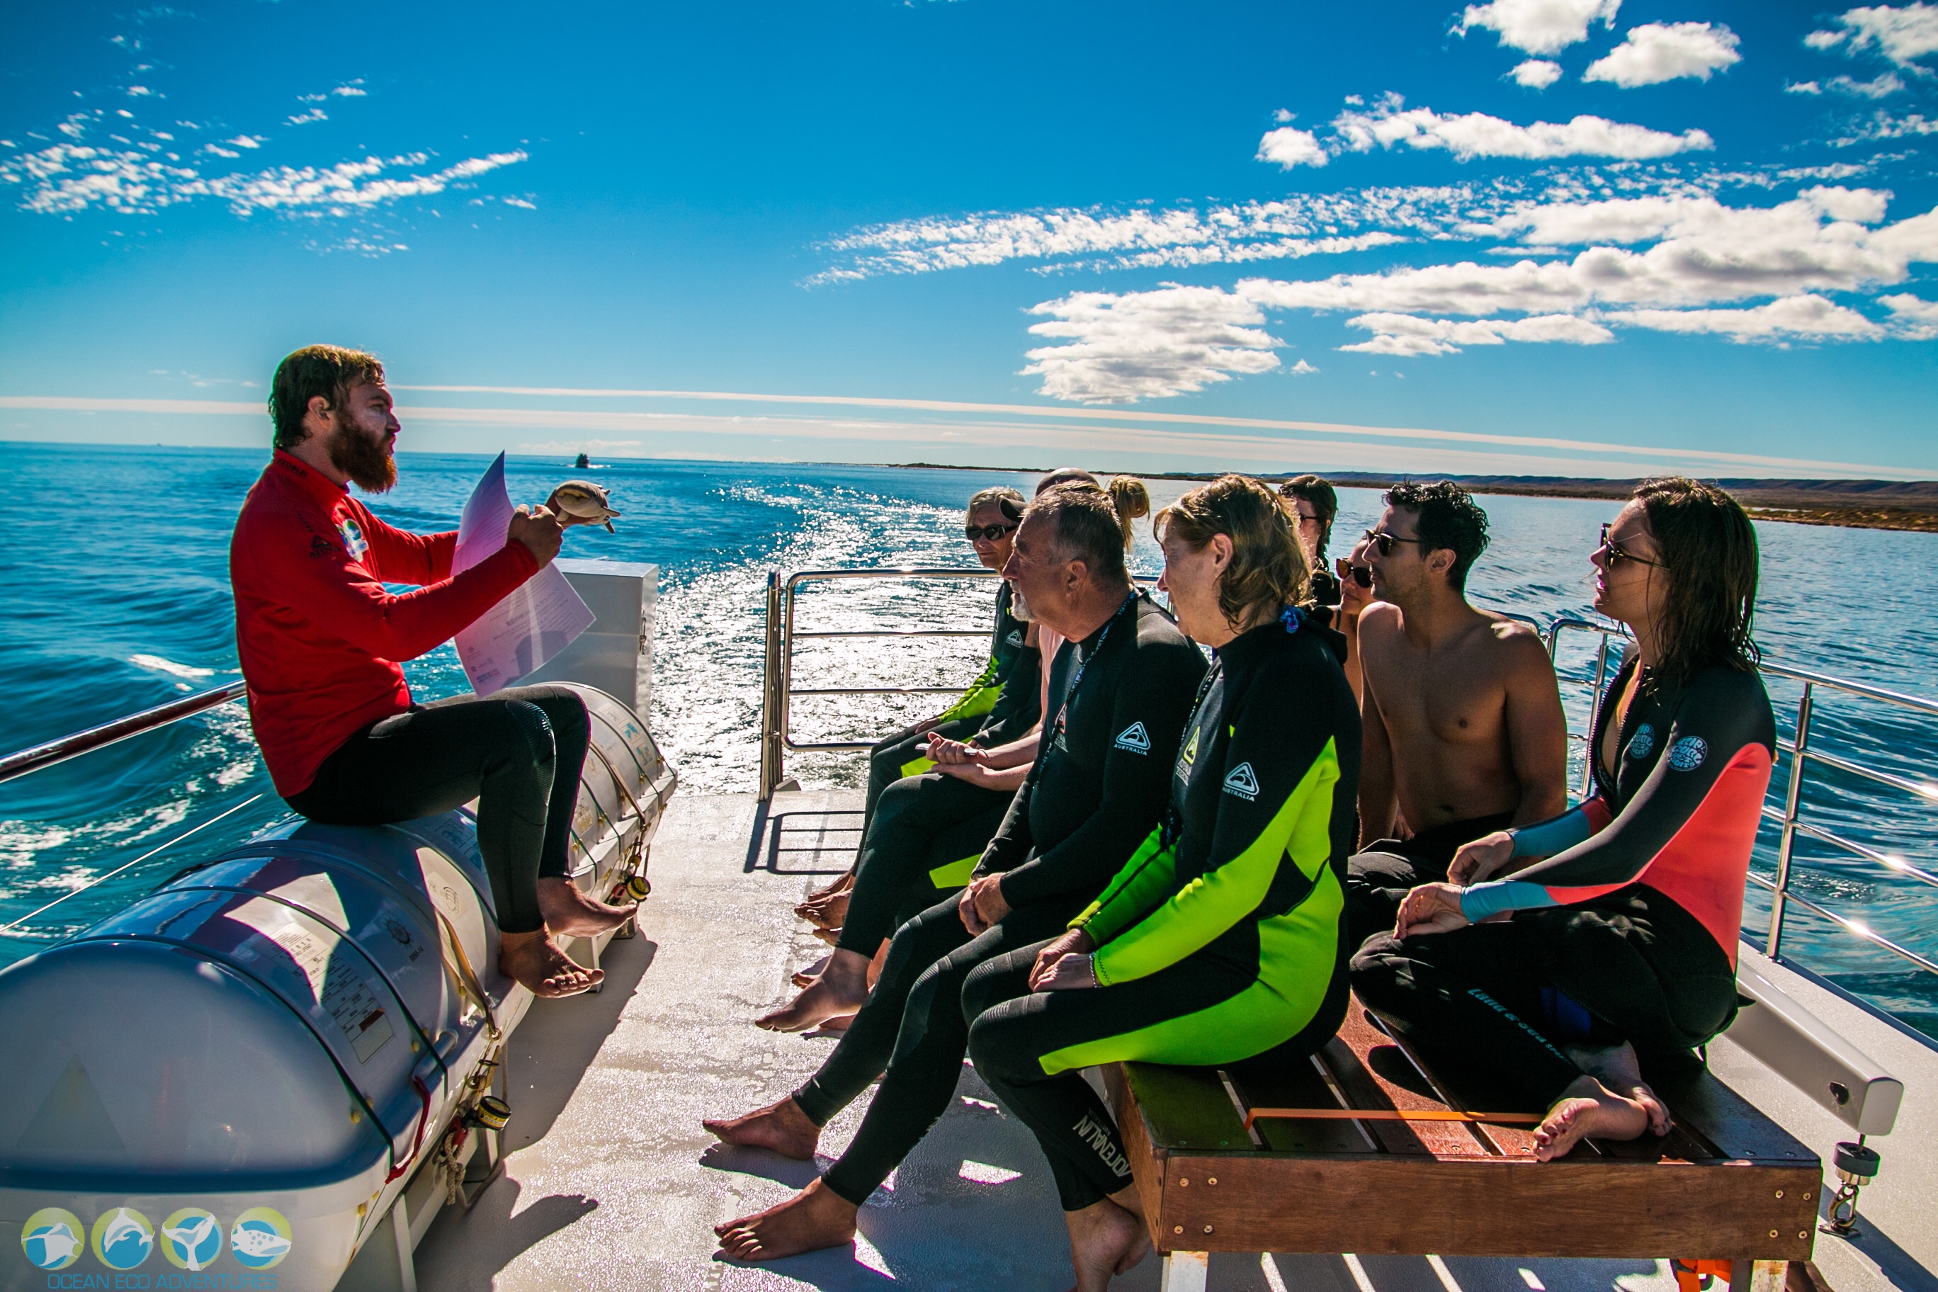
<path id="1" fill-rule="evenodd" d="M 16 6 L 0 440 L 1938 475 L 1938 4 Z"/>

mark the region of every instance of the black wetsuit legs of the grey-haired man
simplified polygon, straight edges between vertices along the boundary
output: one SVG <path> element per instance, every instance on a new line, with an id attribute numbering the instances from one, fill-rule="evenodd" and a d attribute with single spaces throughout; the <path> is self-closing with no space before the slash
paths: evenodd
<path id="1" fill-rule="evenodd" d="M 971 938 L 950 899 L 895 930 L 868 1003 L 822 1069 L 795 1091 L 800 1112 L 828 1125 L 882 1077 L 847 1153 L 822 1176 L 829 1189 L 860 1207 L 948 1112 L 969 1048 L 961 1007 L 969 970 L 1060 934 L 1081 908 L 1078 899 L 1033 903 Z"/>

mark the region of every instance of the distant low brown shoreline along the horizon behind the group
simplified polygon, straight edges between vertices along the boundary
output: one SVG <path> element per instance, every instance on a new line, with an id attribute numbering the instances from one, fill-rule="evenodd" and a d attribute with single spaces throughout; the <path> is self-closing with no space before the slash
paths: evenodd
<path id="1" fill-rule="evenodd" d="M 915 471 L 1048 471 L 1047 467 L 952 467 L 944 463 L 882 463 Z M 1103 475 L 1103 473 L 1099 473 Z M 1200 471 L 1126 471 L 1143 480 L 1215 480 Z M 1289 473 L 1254 473 L 1260 480 L 1289 480 Z M 1343 488 L 1391 488 L 1401 478 L 1448 478 L 1473 494 L 1523 498 L 1628 498 L 1645 477 L 1417 477 L 1339 471 L 1326 477 Z M 1843 529 L 1903 529 L 1938 533 L 1938 480 L 1777 480 L 1717 478 L 1760 521 L 1837 525 Z"/>

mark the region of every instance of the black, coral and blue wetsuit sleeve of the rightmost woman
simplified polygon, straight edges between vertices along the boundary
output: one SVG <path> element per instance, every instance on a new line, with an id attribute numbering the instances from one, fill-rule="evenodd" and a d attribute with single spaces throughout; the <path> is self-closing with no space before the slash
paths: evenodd
<path id="1" fill-rule="evenodd" d="M 1682 692 L 1669 734 L 1655 750 L 1655 767 L 1609 825 L 1512 879 L 1473 885 L 1461 897 L 1461 910 L 1481 920 L 1500 910 L 1587 901 L 1744 827 L 1754 837 L 1773 748 L 1775 723 L 1758 676 L 1704 670 Z M 1686 860 L 1702 868 L 1707 858 Z"/>

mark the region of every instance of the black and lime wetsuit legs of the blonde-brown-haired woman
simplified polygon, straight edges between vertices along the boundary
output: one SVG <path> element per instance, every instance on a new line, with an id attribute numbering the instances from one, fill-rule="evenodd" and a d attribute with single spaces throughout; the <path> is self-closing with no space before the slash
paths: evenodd
<path id="1" fill-rule="evenodd" d="M 1256 988 L 1258 972 L 1221 957 L 1190 955 L 1116 986 L 1031 992 L 1029 970 L 1045 945 L 1019 947 L 969 974 L 963 984 L 969 1058 L 1002 1106 L 1037 1133 L 1064 1211 L 1081 1211 L 1132 1184 L 1116 1120 L 1081 1069 L 1151 1054 L 1149 1040 L 1167 1025 L 1203 1027 L 1207 1011 Z M 1345 1007 L 1345 965 L 1335 961 L 1310 1023 L 1279 1044 L 1267 1038 L 1264 1052 L 1219 1065 L 1302 1063 L 1333 1038 Z M 1233 1040 L 1236 1054 L 1244 1054 L 1242 1038 L 1227 1034 L 1221 1044 Z"/>

